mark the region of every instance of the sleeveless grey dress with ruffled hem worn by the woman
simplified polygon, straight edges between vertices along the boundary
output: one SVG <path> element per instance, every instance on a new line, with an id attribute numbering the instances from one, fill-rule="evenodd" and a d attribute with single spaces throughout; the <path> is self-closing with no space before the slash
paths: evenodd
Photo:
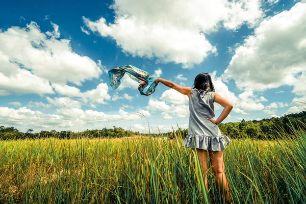
<path id="1" fill-rule="evenodd" d="M 230 138 L 221 134 L 218 125 L 207 119 L 215 117 L 214 98 L 214 92 L 203 91 L 199 94 L 197 89 L 191 90 L 188 135 L 183 146 L 220 151 L 231 142 Z"/>

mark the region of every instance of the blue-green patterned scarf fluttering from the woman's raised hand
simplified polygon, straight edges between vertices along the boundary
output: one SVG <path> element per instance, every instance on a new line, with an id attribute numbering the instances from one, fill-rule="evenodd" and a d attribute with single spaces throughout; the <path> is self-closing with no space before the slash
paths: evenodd
<path id="1" fill-rule="evenodd" d="M 110 76 L 110 86 L 113 89 L 117 89 L 121 82 L 121 78 L 126 73 L 129 77 L 135 82 L 139 83 L 138 90 L 141 95 L 151 95 L 155 92 L 157 84 L 155 83 L 154 77 L 149 77 L 149 73 L 134 67 L 133 65 L 124 65 L 117 67 L 108 71 Z M 143 92 L 144 89 L 151 83 L 146 92 Z"/>

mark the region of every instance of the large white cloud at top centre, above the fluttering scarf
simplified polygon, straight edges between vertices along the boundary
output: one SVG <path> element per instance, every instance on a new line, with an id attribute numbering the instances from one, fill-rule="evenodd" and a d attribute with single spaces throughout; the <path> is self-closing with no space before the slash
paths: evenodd
<path id="1" fill-rule="evenodd" d="M 243 23 L 253 27 L 264 15 L 260 6 L 259 0 L 117 0 L 110 6 L 115 12 L 114 23 L 103 17 L 83 20 L 92 32 L 112 37 L 125 54 L 156 57 L 158 62 L 188 68 L 217 53 L 206 33 L 218 30 L 221 24 L 231 30 Z"/>

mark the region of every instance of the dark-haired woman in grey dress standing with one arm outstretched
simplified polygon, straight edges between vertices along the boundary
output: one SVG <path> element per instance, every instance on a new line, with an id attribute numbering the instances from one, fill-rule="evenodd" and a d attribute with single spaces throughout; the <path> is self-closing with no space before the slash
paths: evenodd
<path id="1" fill-rule="evenodd" d="M 184 140 L 184 146 L 197 151 L 200 163 L 202 165 L 205 186 L 207 184 L 207 150 L 209 152 L 212 169 L 219 183 L 219 190 L 228 201 L 228 184 L 224 171 L 223 149 L 230 143 L 230 138 L 222 135 L 217 124 L 222 122 L 233 109 L 230 101 L 215 93 L 211 76 L 208 73 L 200 73 L 194 80 L 193 88 L 182 87 L 171 81 L 157 79 L 156 84 L 162 83 L 169 88 L 179 91 L 189 97 L 189 126 L 188 136 Z M 214 102 L 224 107 L 222 113 L 217 119 L 214 113 Z"/>

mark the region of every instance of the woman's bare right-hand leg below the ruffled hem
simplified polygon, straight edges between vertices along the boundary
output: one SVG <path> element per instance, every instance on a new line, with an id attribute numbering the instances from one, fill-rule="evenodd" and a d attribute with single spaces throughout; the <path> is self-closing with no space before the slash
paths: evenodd
<path id="1" fill-rule="evenodd" d="M 219 190 L 221 191 L 221 195 L 223 196 L 222 186 L 224 186 L 225 201 L 228 201 L 230 199 L 230 194 L 228 193 L 228 184 L 224 170 L 223 150 L 209 151 L 209 156 L 211 158 L 214 174 L 218 179 Z"/>

